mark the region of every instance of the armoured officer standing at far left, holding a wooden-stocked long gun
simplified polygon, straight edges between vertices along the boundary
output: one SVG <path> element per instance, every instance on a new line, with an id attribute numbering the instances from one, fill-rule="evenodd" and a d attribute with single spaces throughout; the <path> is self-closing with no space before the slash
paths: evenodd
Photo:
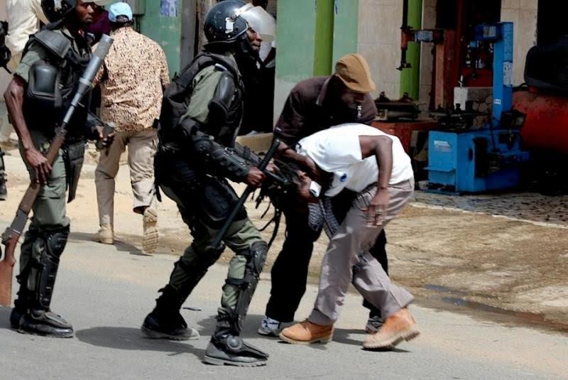
<path id="1" fill-rule="evenodd" d="M 65 215 L 75 196 L 84 154 L 84 137 L 98 136 L 87 129 L 87 107 L 72 117 L 65 149 L 53 165 L 48 150 L 56 125 L 70 105 L 91 50 L 82 28 L 92 21 L 92 2 L 42 0 L 50 24 L 35 33 L 23 53 L 4 94 L 6 107 L 18 134 L 21 156 L 31 180 L 42 188 L 33 204 L 33 218 L 21 246 L 20 288 L 10 321 L 20 332 L 51 337 L 72 337 L 73 327 L 50 310 L 60 256 L 69 235 Z"/>

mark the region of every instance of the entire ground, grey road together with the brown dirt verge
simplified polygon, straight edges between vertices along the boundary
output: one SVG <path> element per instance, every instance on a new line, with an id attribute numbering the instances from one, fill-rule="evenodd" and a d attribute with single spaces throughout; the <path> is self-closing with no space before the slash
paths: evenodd
<path id="1" fill-rule="evenodd" d="M 8 151 L 6 167 L 9 199 L 0 202 L 0 230 L 9 224 L 28 183 L 17 151 Z M 141 217 L 131 212 L 125 169 L 116 185 L 115 246 L 92 242 L 98 224 L 92 161 L 84 167 L 77 200 L 68 207 L 72 237 L 54 305 L 75 324 L 77 337 L 60 341 L 19 335 L 7 328 L 9 310 L 0 308 L 0 379 L 156 379 L 195 374 L 231 379 L 566 376 L 566 197 L 527 193 L 448 197 L 418 192 L 417 201 L 387 229 L 393 278 L 417 295 L 417 304 L 430 307 L 413 308 L 422 329 L 418 340 L 397 352 L 362 351 L 364 335 L 359 329 L 366 315 L 357 296 L 346 300 L 332 344 L 293 347 L 261 339 L 254 330 L 268 298 L 265 277 L 251 307 L 246 336 L 271 353 L 271 362 L 263 369 L 231 371 L 200 363 L 206 338 L 191 344 L 154 342 L 138 333 L 156 290 L 168 277 L 173 255 L 187 245 L 188 235 L 175 205 L 165 200 L 160 205 L 159 254 L 141 254 Z M 254 210 L 251 202 L 248 207 L 260 226 L 263 207 Z M 283 227 L 266 273 L 280 249 L 282 233 Z M 310 266 L 315 275 L 326 244 L 324 237 L 316 244 Z M 222 262 L 229 257 L 225 255 Z M 203 335 L 212 332 L 224 271 L 215 266 L 190 300 L 190 306 L 202 311 L 184 312 Z M 312 287 L 297 318 L 307 315 L 314 296 Z M 47 376 L 39 374 L 43 367 Z"/>

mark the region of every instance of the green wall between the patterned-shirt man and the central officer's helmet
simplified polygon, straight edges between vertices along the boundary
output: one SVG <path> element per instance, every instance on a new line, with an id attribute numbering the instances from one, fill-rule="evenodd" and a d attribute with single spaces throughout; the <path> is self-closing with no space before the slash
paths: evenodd
<path id="1" fill-rule="evenodd" d="M 140 31 L 159 43 L 168 58 L 170 76 L 180 70 L 182 0 L 178 0 L 177 16 L 160 14 L 160 0 L 146 0 L 146 12 L 139 17 Z"/>

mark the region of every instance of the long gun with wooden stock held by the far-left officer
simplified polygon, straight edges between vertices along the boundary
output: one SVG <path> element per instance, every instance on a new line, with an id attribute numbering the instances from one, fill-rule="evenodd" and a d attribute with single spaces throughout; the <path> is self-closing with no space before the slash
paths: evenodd
<path id="1" fill-rule="evenodd" d="M 79 80 L 79 86 L 77 87 L 77 92 L 75 92 L 75 96 L 71 101 L 71 105 L 69 109 L 67 109 L 60 126 L 58 126 L 55 130 L 55 137 L 50 143 L 48 153 L 45 155 L 45 158 L 48 159 L 50 165 L 52 165 L 53 161 L 55 161 L 60 148 L 65 142 L 67 125 L 69 124 L 73 114 L 75 114 L 75 109 L 79 106 L 84 95 L 92 88 L 94 76 L 97 75 L 97 72 L 102 66 L 104 58 L 107 56 L 107 53 L 109 53 L 111 45 L 112 38 L 103 35 L 99 45 L 97 46 L 97 50 L 94 51 L 91 60 L 89 60 L 89 64 Z M 13 219 L 10 227 L 6 228 L 6 231 L 2 234 L 2 244 L 4 244 L 6 249 L 4 252 L 4 258 L 0 261 L 0 305 L 8 307 L 11 305 L 13 265 L 16 264 L 14 251 L 16 250 L 18 239 L 20 238 L 23 229 L 26 227 L 28 215 L 40 190 L 41 185 L 32 181 L 28 190 L 26 190 L 26 193 L 23 195 L 20 205 L 18 205 L 16 217 Z"/>

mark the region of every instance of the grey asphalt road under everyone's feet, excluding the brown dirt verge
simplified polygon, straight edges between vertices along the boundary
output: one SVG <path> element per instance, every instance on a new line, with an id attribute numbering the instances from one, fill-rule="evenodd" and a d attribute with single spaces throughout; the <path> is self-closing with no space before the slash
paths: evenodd
<path id="1" fill-rule="evenodd" d="M 5 224 L 6 221 L 1 221 Z M 75 224 L 77 226 L 77 224 Z M 78 225 L 77 229 L 81 229 Z M 125 243 L 103 246 L 85 232 L 71 234 L 62 257 L 53 309 L 75 326 L 68 340 L 21 335 L 0 308 L 0 379 L 568 379 L 568 337 L 413 306 L 422 335 L 393 352 L 361 349 L 366 313 L 349 295 L 334 341 L 294 346 L 256 335 L 270 282 L 259 283 L 244 336 L 271 354 L 266 367 L 202 364 L 226 268 L 214 266 L 183 310 L 202 338 L 147 340 L 139 327 L 174 256 L 144 256 Z M 297 313 L 307 316 L 310 286 Z"/>

